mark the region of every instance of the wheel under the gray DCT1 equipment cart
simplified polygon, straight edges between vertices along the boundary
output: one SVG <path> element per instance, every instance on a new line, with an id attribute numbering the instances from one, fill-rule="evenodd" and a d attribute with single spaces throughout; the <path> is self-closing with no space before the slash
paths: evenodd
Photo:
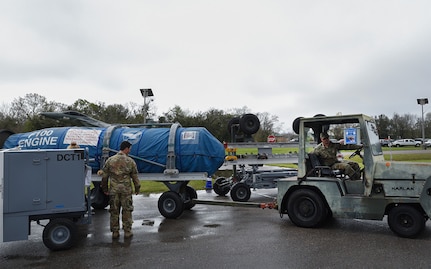
<path id="1" fill-rule="evenodd" d="M 43 229 L 43 243 L 54 251 L 69 249 L 75 243 L 76 230 L 75 223 L 69 219 L 51 219 Z"/>

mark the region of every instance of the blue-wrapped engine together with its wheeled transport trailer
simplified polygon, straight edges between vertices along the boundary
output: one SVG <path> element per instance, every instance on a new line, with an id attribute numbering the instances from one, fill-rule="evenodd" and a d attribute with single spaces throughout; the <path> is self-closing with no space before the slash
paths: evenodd
<path id="1" fill-rule="evenodd" d="M 223 145 L 203 127 L 183 128 L 179 123 L 166 127 L 108 125 L 107 127 L 56 127 L 23 134 L 2 133 L 4 148 L 65 148 L 72 141 L 88 151 L 91 179 L 90 205 L 105 208 L 109 197 L 100 188 L 97 175 L 106 160 L 119 151 L 122 141 L 132 143 L 140 180 L 163 182 L 169 191 L 159 198 L 159 211 L 167 218 L 180 216 L 193 207 L 196 191 L 190 180 L 207 180 L 223 164 Z M 1 143 L 0 143 L 1 144 Z"/>

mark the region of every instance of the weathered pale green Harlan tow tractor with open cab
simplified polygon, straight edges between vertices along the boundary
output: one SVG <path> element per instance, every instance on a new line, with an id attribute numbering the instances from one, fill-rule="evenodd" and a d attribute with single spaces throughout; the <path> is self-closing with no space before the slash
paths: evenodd
<path id="1" fill-rule="evenodd" d="M 298 176 L 277 182 L 280 215 L 300 227 L 319 227 L 328 218 L 382 220 L 401 237 L 418 236 L 431 216 L 431 163 L 387 161 L 372 117 L 299 117 L 293 122 L 299 134 Z M 310 154 L 310 137 L 319 141 L 323 131 L 343 130 L 344 143 L 361 144 L 350 156 L 361 156 L 361 180 L 320 165 Z"/>

